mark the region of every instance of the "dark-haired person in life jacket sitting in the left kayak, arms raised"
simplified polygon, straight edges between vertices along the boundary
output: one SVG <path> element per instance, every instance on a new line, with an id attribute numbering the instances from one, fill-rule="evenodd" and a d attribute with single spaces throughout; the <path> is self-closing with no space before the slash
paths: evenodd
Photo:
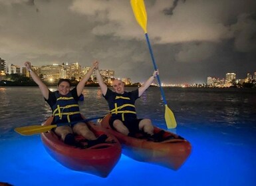
<path id="1" fill-rule="evenodd" d="M 84 89 L 84 84 L 90 78 L 94 68 L 98 66 L 98 62 L 95 61 L 92 64 L 90 70 L 83 76 L 83 78 L 78 82 L 75 88 L 70 90 L 70 80 L 68 79 L 60 79 L 57 86 L 57 91 L 52 92 L 49 88 L 43 83 L 41 78 L 37 76 L 35 72 L 31 69 L 31 62 L 25 62 L 25 66 L 29 71 L 33 80 L 39 86 L 45 101 L 51 106 L 53 110 L 53 124 L 63 124 L 63 123 L 75 123 L 70 125 L 63 125 L 55 128 L 55 133 L 61 137 L 64 143 L 68 145 L 75 145 L 77 147 L 83 147 L 81 143 L 78 143 L 74 134 L 78 134 L 86 138 L 88 141 L 87 147 L 92 145 L 96 145 L 98 143 L 104 143 L 107 136 L 102 135 L 98 138 L 91 132 L 87 125 L 83 120 L 79 106 L 78 100 L 79 96 L 82 94 L 82 90 Z"/>

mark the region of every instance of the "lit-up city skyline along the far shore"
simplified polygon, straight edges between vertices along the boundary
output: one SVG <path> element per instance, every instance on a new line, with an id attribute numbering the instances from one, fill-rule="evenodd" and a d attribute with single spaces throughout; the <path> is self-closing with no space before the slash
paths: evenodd
<path id="1" fill-rule="evenodd" d="M 15 64 L 6 64 L 5 60 L 1 59 L 1 74 L 0 74 L 0 80 L 5 79 L 5 74 L 23 74 L 27 77 L 30 77 L 29 72 L 27 72 L 27 69 L 25 67 L 20 68 L 20 66 L 17 66 Z M 82 67 L 78 62 L 74 62 L 71 64 L 68 64 L 66 62 L 62 62 L 61 65 L 54 63 L 52 65 L 43 65 L 43 66 L 32 66 L 33 71 L 38 75 L 41 76 L 42 79 L 46 79 L 49 82 L 55 82 L 55 80 L 58 80 L 59 78 L 68 78 L 70 80 L 76 80 L 79 81 L 84 74 L 88 72 L 90 67 Z M 104 81 L 108 84 L 112 83 L 112 80 L 115 79 L 115 71 L 114 70 L 100 70 L 100 74 L 104 78 Z M 95 72 L 92 73 L 92 76 L 90 77 L 92 82 L 97 83 L 96 80 L 96 74 Z M 129 77 L 123 78 L 118 77 L 118 80 L 122 80 L 124 84 L 131 85 L 132 79 Z M 236 74 L 234 72 L 227 72 L 225 74 L 225 78 L 216 78 L 208 76 L 206 78 L 206 83 L 193 83 L 193 84 L 170 84 L 170 83 L 162 83 L 161 86 L 163 87 L 230 87 L 230 86 L 241 86 L 241 84 L 244 83 L 253 83 L 255 84 L 256 81 L 256 72 L 254 72 L 253 75 L 247 73 L 247 76 L 243 79 L 237 79 Z M 141 82 L 139 82 L 142 84 Z M 140 85 L 138 85 L 140 86 Z M 152 83 L 152 86 L 159 86 L 159 84 Z"/>

